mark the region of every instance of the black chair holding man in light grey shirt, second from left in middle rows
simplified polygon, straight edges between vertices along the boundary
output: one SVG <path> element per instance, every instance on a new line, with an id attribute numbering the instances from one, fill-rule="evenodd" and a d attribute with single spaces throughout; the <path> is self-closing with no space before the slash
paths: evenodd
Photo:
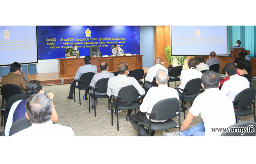
<path id="1" fill-rule="evenodd" d="M 93 99 L 94 99 L 94 113 L 95 113 L 95 117 L 96 117 L 95 98 L 108 98 L 108 102 L 109 102 L 109 97 L 108 97 L 107 94 L 105 94 L 105 95 L 97 95 L 97 94 L 94 94 L 94 93 L 95 92 L 106 93 L 107 89 L 108 89 L 108 81 L 109 81 L 109 78 L 99 79 L 96 82 L 95 87 L 91 87 L 91 90 L 93 90 L 93 93 L 91 93 L 91 94 L 89 93 L 89 113 L 91 112 L 90 97 L 93 97 Z M 109 105 L 109 103 L 108 103 L 108 105 Z"/>

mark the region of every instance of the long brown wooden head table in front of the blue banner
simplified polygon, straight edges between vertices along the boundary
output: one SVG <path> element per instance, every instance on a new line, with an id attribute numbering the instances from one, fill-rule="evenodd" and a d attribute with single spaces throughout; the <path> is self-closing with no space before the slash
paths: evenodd
<path id="1" fill-rule="evenodd" d="M 108 57 L 91 57 L 91 65 L 97 66 L 98 72 L 101 72 L 99 67 L 101 62 L 107 62 L 109 72 L 118 71 L 118 65 L 121 62 L 128 64 L 130 70 L 142 69 L 142 56 L 108 56 Z M 84 58 L 59 58 L 58 60 L 58 77 L 74 77 L 80 66 L 84 65 Z"/>

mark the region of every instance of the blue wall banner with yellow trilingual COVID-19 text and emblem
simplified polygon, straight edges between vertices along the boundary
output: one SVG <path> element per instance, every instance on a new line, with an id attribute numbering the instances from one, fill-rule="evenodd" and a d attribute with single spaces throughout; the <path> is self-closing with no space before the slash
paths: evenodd
<path id="1" fill-rule="evenodd" d="M 140 54 L 139 26 L 37 26 L 38 60 L 65 58 L 64 50 L 77 44 L 80 56 L 98 45 L 101 55 L 112 55 L 118 44 L 125 53 Z"/>

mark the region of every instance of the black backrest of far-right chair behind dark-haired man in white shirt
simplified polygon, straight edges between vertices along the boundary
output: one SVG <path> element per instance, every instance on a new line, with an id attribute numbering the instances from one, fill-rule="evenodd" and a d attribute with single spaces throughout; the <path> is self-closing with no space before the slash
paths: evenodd
<path id="1" fill-rule="evenodd" d="M 233 101 L 234 107 L 245 108 L 252 105 L 255 99 L 256 89 L 247 88 L 238 93 Z"/>

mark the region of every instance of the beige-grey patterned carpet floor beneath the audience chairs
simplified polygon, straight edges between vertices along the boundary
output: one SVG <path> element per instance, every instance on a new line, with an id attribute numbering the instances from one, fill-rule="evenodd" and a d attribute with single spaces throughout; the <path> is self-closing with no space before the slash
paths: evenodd
<path id="1" fill-rule="evenodd" d="M 180 82 L 177 82 L 180 85 Z M 175 82 L 170 82 L 170 87 L 174 88 Z M 98 99 L 98 104 L 96 107 L 97 117 L 94 117 L 94 109 L 91 108 L 91 113 L 89 113 L 89 101 L 81 102 L 79 105 L 79 95 L 78 90 L 76 90 L 76 102 L 74 99 L 67 99 L 69 93 L 70 85 L 55 85 L 55 86 L 44 86 L 44 92 L 53 92 L 54 104 L 59 116 L 58 124 L 71 127 L 75 136 L 137 136 L 138 133 L 133 129 L 131 122 L 127 122 L 125 117 L 127 115 L 127 110 L 118 113 L 119 120 L 119 130 L 117 133 L 117 121 L 116 115 L 113 114 L 113 126 L 111 126 L 111 113 L 108 113 L 108 99 Z M 252 79 L 252 87 L 256 87 L 256 79 Z M 82 98 L 83 92 L 81 92 Z M 2 104 L 2 98 L 0 99 L 0 104 Z M 181 104 L 181 101 L 180 101 Z M 190 108 L 190 102 L 187 102 L 185 107 L 188 110 L 185 112 L 186 115 Z M 137 109 L 138 112 L 139 109 Z M 135 111 L 132 111 L 132 114 Z M 253 121 L 253 115 L 240 117 L 241 121 Z M 178 118 L 174 118 L 174 121 L 178 124 Z M 184 121 L 183 113 L 181 113 L 181 124 Z M 202 121 L 200 116 L 195 117 L 189 128 L 196 125 Z M 3 131 L 3 126 L 0 127 Z M 168 132 L 177 131 L 177 128 L 170 129 Z M 156 131 L 155 136 L 163 136 L 165 131 Z"/>

